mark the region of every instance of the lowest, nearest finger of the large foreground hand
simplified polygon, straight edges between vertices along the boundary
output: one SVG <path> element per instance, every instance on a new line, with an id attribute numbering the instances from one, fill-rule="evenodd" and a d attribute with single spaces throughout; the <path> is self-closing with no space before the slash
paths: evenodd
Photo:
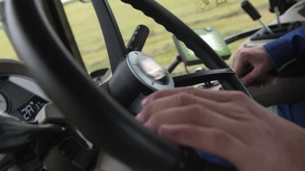
<path id="1" fill-rule="evenodd" d="M 175 143 L 218 155 L 235 165 L 247 154 L 245 143 L 220 129 L 174 124 L 162 125 L 158 133 Z"/>

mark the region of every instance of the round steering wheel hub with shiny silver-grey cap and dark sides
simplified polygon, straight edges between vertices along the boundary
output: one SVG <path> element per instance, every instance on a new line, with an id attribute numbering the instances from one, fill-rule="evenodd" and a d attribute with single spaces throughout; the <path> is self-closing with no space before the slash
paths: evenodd
<path id="1" fill-rule="evenodd" d="M 140 95 L 174 88 L 174 79 L 156 59 L 140 51 L 131 51 L 120 62 L 109 81 L 110 94 L 125 106 Z"/>

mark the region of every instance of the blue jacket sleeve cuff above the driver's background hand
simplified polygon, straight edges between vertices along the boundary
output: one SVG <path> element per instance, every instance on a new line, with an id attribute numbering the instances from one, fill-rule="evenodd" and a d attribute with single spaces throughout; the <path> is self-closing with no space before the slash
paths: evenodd
<path id="1" fill-rule="evenodd" d="M 277 68 L 292 59 L 303 62 L 305 61 L 305 27 L 297 28 L 263 47 Z"/>

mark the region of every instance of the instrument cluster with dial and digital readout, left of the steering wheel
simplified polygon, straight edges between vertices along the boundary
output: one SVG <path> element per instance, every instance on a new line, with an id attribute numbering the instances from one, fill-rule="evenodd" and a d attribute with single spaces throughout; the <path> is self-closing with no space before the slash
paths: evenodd
<path id="1" fill-rule="evenodd" d="M 0 115 L 6 113 L 23 121 L 33 121 L 50 102 L 49 98 L 22 62 L 0 59 L 0 68 Z"/>

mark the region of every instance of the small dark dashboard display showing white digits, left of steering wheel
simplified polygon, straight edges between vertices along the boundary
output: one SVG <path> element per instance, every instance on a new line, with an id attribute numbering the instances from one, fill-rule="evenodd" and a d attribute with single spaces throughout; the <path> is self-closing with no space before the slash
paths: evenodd
<path id="1" fill-rule="evenodd" d="M 27 102 L 21 105 L 18 108 L 18 111 L 21 113 L 22 118 L 26 121 L 33 120 L 41 108 L 47 103 L 43 98 L 40 98 L 37 95 L 31 97 Z"/>

